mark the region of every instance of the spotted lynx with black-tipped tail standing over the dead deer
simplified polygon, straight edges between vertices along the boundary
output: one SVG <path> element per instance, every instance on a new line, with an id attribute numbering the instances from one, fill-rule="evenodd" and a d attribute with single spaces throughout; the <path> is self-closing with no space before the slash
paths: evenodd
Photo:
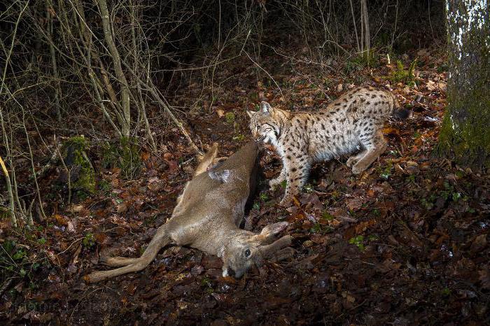
<path id="1" fill-rule="evenodd" d="M 386 150 L 381 129 L 392 114 L 407 118 L 409 111 L 391 92 L 374 87 L 357 87 L 316 112 L 290 112 L 272 108 L 262 101 L 260 111 L 247 111 L 255 139 L 274 146 L 283 167 L 275 187 L 287 181 L 281 204 L 288 204 L 307 180 L 314 162 L 349 157 L 346 165 L 354 174 L 367 169 Z"/>

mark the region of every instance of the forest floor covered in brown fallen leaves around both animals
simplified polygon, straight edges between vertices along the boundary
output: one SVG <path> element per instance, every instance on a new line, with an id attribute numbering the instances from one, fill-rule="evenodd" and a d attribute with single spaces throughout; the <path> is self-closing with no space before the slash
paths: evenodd
<path id="1" fill-rule="evenodd" d="M 3 225 L 0 258 L 9 269 L 0 288 L 0 320 L 62 325 L 490 323 L 489 174 L 433 155 L 446 105 L 447 67 L 441 53 L 409 52 L 402 57 L 404 69 L 388 64 L 386 56 L 374 68 L 352 60 L 331 60 L 328 68 L 301 55 L 271 55 L 261 64 L 274 81 L 246 58 L 217 69 L 215 83 L 225 81 L 213 90 L 203 90 L 199 78 L 188 80 L 189 87 L 172 103 L 187 106 L 188 99 L 207 99 L 185 120 L 198 145 L 220 143 L 219 156 L 250 139 L 245 110 L 255 110 L 261 99 L 293 110 L 317 110 L 354 86 L 373 85 L 392 89 L 413 116 L 386 123 L 388 149 L 360 176 L 346 167 L 345 157 L 316 164 L 299 204 L 290 208 L 279 206 L 283 189 L 267 187 L 281 163 L 265 150 L 263 175 L 245 224 L 258 231 L 279 220 L 290 222 L 285 234 L 294 237 L 296 252 L 239 280 L 221 277 L 218 257 L 174 247 L 162 250 L 137 274 L 85 284 L 85 274 L 104 268 L 98 264 L 103 249 L 140 255 L 171 215 L 195 166 L 195 153 L 174 127 L 156 130 L 158 153 L 142 151 L 144 167 L 135 180 L 124 180 L 118 169 L 99 168 L 97 155 L 91 154 L 97 194 L 70 206 L 59 204 L 32 231 Z M 415 58 L 414 76 L 409 76 Z M 416 86 L 407 86 L 412 81 Z M 53 191 L 50 184 L 57 176 L 52 174 L 40 181 L 43 194 Z"/>

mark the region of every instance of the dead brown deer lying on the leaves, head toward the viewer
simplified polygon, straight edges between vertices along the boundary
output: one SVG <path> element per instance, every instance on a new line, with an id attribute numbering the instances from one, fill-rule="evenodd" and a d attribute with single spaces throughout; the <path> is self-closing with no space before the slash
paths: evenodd
<path id="1" fill-rule="evenodd" d="M 217 144 L 204 155 L 183 193 L 177 199 L 172 217 L 158 228 L 145 252 L 139 258 L 102 257 L 112 267 L 94 271 L 85 281 L 93 283 L 113 276 L 141 271 L 158 251 L 169 244 L 190 246 L 217 255 L 223 260 L 223 276 L 241 277 L 253 264 L 260 264 L 277 251 L 290 246 L 291 236 L 274 240 L 288 225 L 278 222 L 262 229 L 260 234 L 240 229 L 245 203 L 255 184 L 258 146 L 251 141 L 225 162 L 212 167 Z M 287 249 L 286 249 L 287 250 Z"/>

